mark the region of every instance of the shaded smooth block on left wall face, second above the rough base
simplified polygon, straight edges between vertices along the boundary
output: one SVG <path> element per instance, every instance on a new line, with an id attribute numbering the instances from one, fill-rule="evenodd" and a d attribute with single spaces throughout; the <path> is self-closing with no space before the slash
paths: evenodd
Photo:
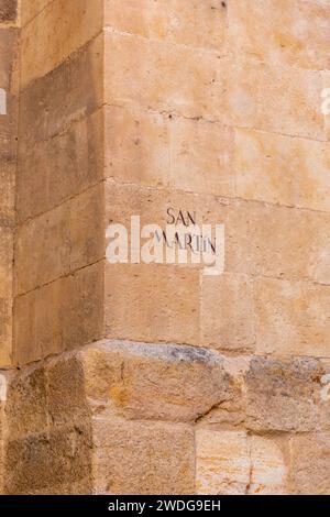
<path id="1" fill-rule="evenodd" d="M 18 230 L 15 293 L 18 295 L 92 264 L 105 255 L 102 186 Z"/>

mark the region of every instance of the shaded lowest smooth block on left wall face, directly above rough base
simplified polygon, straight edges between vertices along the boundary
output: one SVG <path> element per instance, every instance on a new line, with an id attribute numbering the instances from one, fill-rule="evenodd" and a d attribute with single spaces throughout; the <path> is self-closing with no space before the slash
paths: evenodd
<path id="1" fill-rule="evenodd" d="M 16 297 L 15 363 L 26 364 L 100 339 L 102 282 L 99 262 Z"/>

